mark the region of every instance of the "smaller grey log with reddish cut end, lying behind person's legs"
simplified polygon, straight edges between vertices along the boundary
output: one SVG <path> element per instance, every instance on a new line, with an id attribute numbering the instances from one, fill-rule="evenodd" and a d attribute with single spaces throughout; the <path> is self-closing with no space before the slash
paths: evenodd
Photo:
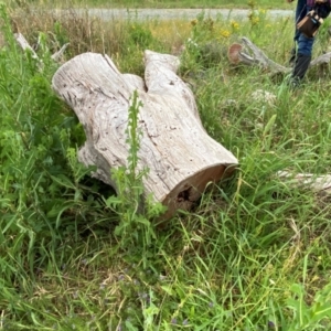
<path id="1" fill-rule="evenodd" d="M 280 65 L 270 60 L 259 47 L 257 47 L 249 39 L 243 38 L 243 44 L 233 44 L 228 50 L 228 60 L 233 64 L 246 64 L 249 66 L 259 66 L 271 74 L 289 74 L 290 67 Z M 331 52 L 322 54 L 311 61 L 309 68 L 329 63 Z"/>

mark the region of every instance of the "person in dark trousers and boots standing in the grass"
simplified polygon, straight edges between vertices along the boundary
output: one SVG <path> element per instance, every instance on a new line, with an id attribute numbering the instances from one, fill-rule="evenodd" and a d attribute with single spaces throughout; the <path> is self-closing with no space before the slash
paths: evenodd
<path id="1" fill-rule="evenodd" d="M 293 2 L 295 0 L 287 0 Z M 307 17 L 307 14 L 314 10 L 324 19 L 330 13 L 331 0 L 298 0 L 296 9 L 296 31 L 295 31 L 295 47 L 291 51 L 290 64 L 293 65 L 291 73 L 291 84 L 297 86 L 303 79 L 309 67 L 312 54 L 312 46 L 314 36 L 307 36 L 301 33 L 297 24 Z"/>

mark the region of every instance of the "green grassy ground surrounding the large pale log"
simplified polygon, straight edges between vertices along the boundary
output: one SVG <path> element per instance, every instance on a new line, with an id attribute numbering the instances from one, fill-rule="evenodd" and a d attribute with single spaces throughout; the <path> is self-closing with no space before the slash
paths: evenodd
<path id="1" fill-rule="evenodd" d="M 331 329 L 329 197 L 276 175 L 330 172 L 329 67 L 290 92 L 285 77 L 226 56 L 245 35 L 286 64 L 290 20 L 270 24 L 256 8 L 245 22 L 103 23 L 3 6 L 1 20 L 0 330 Z M 314 56 L 329 51 L 327 25 Z M 17 46 L 15 30 L 42 65 Z M 105 52 L 139 75 L 143 50 L 185 44 L 180 76 L 210 136 L 237 156 L 236 178 L 162 228 L 134 213 L 135 199 L 115 200 L 77 163 L 84 131 L 51 89 L 50 55 L 68 41 L 64 60 Z M 254 98 L 258 89 L 275 99 Z"/>

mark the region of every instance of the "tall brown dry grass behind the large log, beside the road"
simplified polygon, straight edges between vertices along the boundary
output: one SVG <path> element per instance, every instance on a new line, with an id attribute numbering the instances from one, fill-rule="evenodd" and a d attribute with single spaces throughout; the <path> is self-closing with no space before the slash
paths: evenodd
<path id="1" fill-rule="evenodd" d="M 15 30 L 34 45 L 42 32 L 49 38 L 51 51 L 71 43 L 70 55 L 84 52 L 116 54 L 122 49 L 125 22 L 104 22 L 87 11 L 67 9 L 62 11 L 15 10 L 11 13 Z M 35 45 L 34 45 L 35 46 Z"/>

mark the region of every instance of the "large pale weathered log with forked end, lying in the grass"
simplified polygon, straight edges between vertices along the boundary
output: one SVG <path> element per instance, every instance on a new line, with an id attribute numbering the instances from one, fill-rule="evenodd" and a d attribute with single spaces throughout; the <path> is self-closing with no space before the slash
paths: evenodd
<path id="1" fill-rule="evenodd" d="M 85 53 L 62 65 L 52 84 L 84 126 L 79 160 L 96 164 L 94 175 L 115 189 L 109 169 L 127 164 L 128 109 L 138 90 L 138 170 L 149 169 L 145 195 L 152 193 L 171 216 L 189 210 L 210 182 L 228 177 L 237 159 L 202 127 L 192 92 L 175 74 L 179 58 L 146 51 L 145 64 L 143 81 L 121 74 L 107 55 Z"/>

